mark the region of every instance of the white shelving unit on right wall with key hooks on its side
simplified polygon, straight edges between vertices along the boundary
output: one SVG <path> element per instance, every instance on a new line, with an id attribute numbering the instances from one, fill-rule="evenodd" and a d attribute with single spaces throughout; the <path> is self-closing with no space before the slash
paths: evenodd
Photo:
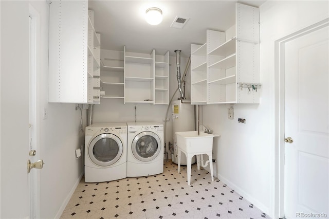
<path id="1" fill-rule="evenodd" d="M 191 45 L 192 104 L 259 103 L 259 29 L 259 9 L 236 3 L 234 26 Z"/>

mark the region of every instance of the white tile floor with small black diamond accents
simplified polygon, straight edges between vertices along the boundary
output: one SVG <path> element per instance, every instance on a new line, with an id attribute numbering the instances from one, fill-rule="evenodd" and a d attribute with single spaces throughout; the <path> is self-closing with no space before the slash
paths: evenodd
<path id="1" fill-rule="evenodd" d="M 80 181 L 61 218 L 270 218 L 210 173 L 165 162 L 163 173 L 99 183 Z"/>

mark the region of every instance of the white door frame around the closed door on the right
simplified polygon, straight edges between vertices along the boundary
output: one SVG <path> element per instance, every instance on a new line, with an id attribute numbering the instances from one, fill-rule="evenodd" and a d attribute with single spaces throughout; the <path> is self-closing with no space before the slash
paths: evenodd
<path id="1" fill-rule="evenodd" d="M 274 215 L 275 218 L 284 218 L 284 136 L 285 136 L 285 72 L 284 52 L 285 44 L 302 35 L 329 25 L 329 19 L 324 19 L 313 25 L 302 28 L 275 41 L 275 194 Z"/>

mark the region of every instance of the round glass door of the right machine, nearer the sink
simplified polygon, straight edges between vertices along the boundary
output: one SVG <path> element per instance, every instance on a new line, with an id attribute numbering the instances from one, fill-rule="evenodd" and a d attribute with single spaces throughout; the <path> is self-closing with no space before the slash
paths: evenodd
<path id="1" fill-rule="evenodd" d="M 140 161 L 151 161 L 158 156 L 160 151 L 161 140 L 153 132 L 141 132 L 133 140 L 132 152 Z"/>

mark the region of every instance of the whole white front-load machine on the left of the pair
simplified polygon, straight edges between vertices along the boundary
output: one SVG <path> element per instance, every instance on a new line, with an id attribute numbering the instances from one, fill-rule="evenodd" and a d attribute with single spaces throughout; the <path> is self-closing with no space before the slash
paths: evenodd
<path id="1" fill-rule="evenodd" d="M 127 177 L 127 124 L 98 123 L 86 127 L 85 182 Z"/>

